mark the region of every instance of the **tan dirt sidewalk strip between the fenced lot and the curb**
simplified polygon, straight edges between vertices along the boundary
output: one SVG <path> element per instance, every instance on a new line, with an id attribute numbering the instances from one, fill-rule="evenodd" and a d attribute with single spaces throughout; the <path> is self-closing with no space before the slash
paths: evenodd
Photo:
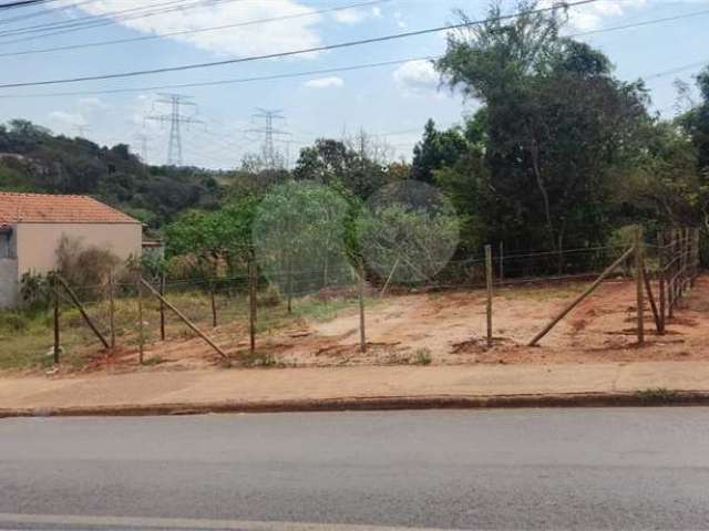
<path id="1" fill-rule="evenodd" d="M 0 416 L 490 405 L 495 397 L 709 394 L 709 362 L 204 369 L 0 378 Z M 709 396 L 709 395 L 708 395 Z M 542 402 L 540 402 L 542 399 Z M 462 402 L 460 402 L 462 400 Z M 471 402 L 472 400 L 472 402 Z M 399 406 L 397 406 L 399 404 Z M 494 405 L 494 402 L 492 403 Z M 531 402 L 534 404 L 534 400 Z"/>

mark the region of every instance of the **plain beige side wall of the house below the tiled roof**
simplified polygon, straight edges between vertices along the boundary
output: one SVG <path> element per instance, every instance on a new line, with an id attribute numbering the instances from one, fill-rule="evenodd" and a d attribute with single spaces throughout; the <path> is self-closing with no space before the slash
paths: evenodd
<path id="1" fill-rule="evenodd" d="M 18 223 L 16 230 L 19 277 L 55 269 L 56 248 L 64 235 L 80 239 L 84 247 L 110 249 L 122 260 L 141 256 L 141 223 Z"/>

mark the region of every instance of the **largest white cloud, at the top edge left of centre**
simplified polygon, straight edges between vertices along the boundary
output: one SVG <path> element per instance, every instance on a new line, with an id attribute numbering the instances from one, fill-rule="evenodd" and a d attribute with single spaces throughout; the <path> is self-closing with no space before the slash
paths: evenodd
<path id="1" fill-rule="evenodd" d="M 69 0 L 66 0 L 69 3 Z M 105 15 L 115 11 L 140 8 L 145 13 L 145 0 L 97 0 L 83 2 L 81 8 L 90 14 Z M 224 2 L 161 12 L 153 17 L 113 18 L 141 33 L 169 33 L 218 25 L 237 24 L 282 15 L 314 13 L 311 7 L 297 0 L 268 0 L 259 2 Z M 261 24 L 240 25 L 233 29 L 173 35 L 169 39 L 187 42 L 202 50 L 229 56 L 274 53 L 285 50 L 317 46 L 320 37 L 315 30 L 322 17 L 312 14 Z"/>

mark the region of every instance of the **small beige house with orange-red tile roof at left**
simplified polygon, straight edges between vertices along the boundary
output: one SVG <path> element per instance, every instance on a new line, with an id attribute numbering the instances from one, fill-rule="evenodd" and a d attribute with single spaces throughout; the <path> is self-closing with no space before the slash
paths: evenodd
<path id="1" fill-rule="evenodd" d="M 17 305 L 22 274 L 56 268 L 63 236 L 129 259 L 141 254 L 142 232 L 138 220 L 88 196 L 0 191 L 0 308 Z"/>

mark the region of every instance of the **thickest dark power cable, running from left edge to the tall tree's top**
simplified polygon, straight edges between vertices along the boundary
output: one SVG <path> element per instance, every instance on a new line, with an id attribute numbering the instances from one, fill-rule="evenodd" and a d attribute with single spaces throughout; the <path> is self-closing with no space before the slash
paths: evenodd
<path id="1" fill-rule="evenodd" d="M 577 0 L 576 2 L 564 3 L 563 7 L 564 7 L 564 9 L 566 9 L 566 8 L 573 8 L 573 7 L 595 3 L 598 0 Z M 339 49 L 343 49 L 343 48 L 358 46 L 358 45 L 362 45 L 362 44 L 373 44 L 373 43 L 379 43 L 379 42 L 389 42 L 389 41 L 394 41 L 394 40 L 399 40 L 399 39 L 405 39 L 405 38 L 410 38 L 410 37 L 419 37 L 419 35 L 425 35 L 425 34 L 431 34 L 431 33 L 440 33 L 442 31 L 450 31 L 450 30 L 455 30 L 455 29 L 470 28 L 471 25 L 483 24 L 483 23 L 492 22 L 492 21 L 515 19 L 515 18 L 518 18 L 518 17 L 521 17 L 523 14 L 533 14 L 533 13 L 543 13 L 543 12 L 554 11 L 554 10 L 557 10 L 557 9 L 561 9 L 561 8 L 562 8 L 561 6 L 554 4 L 554 6 L 548 7 L 548 8 L 538 8 L 538 9 L 533 9 L 533 10 L 528 10 L 528 11 L 524 11 L 524 12 L 517 12 L 517 13 L 513 13 L 513 14 L 505 14 L 505 15 L 501 15 L 501 17 L 486 18 L 486 19 L 481 19 L 481 20 L 476 20 L 476 21 L 461 22 L 461 23 L 458 23 L 458 24 L 445 24 L 445 25 L 439 25 L 439 27 L 434 27 L 434 28 L 427 28 L 427 29 L 423 29 L 423 30 L 405 31 L 405 32 L 401 32 L 401 33 L 392 33 L 392 34 L 389 34 L 389 35 L 374 37 L 374 38 L 370 38 L 370 39 L 360 39 L 360 40 L 356 40 L 356 41 L 340 42 L 340 43 L 337 43 L 337 44 L 325 44 L 325 45 L 320 45 L 320 46 L 310 46 L 310 48 L 300 49 L 300 50 L 290 50 L 290 51 L 286 51 L 286 52 L 267 53 L 267 54 L 261 54 L 261 55 L 250 55 L 250 56 L 246 56 L 246 58 L 227 59 L 227 60 L 212 61 L 212 62 L 206 62 L 206 63 L 193 63 L 193 64 L 184 64 L 184 65 L 181 65 L 181 66 L 164 66 L 164 67 L 160 67 L 160 69 L 136 70 L 136 71 L 132 71 L 132 72 L 121 72 L 121 73 L 101 74 L 101 75 L 88 75 L 88 76 L 68 77 L 68 79 L 60 79 L 60 80 L 44 80 L 44 81 L 32 81 L 32 82 L 22 82 L 22 83 L 4 83 L 4 84 L 0 84 L 0 88 L 16 88 L 16 87 L 22 87 L 22 86 L 40 86 L 40 85 L 56 85 L 56 84 L 63 84 L 63 83 L 78 83 L 78 82 L 85 82 L 85 81 L 113 80 L 113 79 L 120 79 L 120 77 L 135 77 L 135 76 L 140 76 L 140 75 L 162 74 L 162 73 L 167 73 L 167 72 L 178 72 L 178 71 L 186 71 L 186 70 L 196 70 L 196 69 L 205 69 L 205 67 L 213 67 L 213 66 L 222 66 L 222 65 L 226 65 L 226 64 L 246 63 L 246 62 L 259 61 L 259 60 L 265 60 L 265 59 L 288 58 L 288 56 L 292 56 L 292 55 L 302 55 L 305 53 L 323 52 L 323 51 L 327 51 L 327 50 L 339 50 Z"/>

